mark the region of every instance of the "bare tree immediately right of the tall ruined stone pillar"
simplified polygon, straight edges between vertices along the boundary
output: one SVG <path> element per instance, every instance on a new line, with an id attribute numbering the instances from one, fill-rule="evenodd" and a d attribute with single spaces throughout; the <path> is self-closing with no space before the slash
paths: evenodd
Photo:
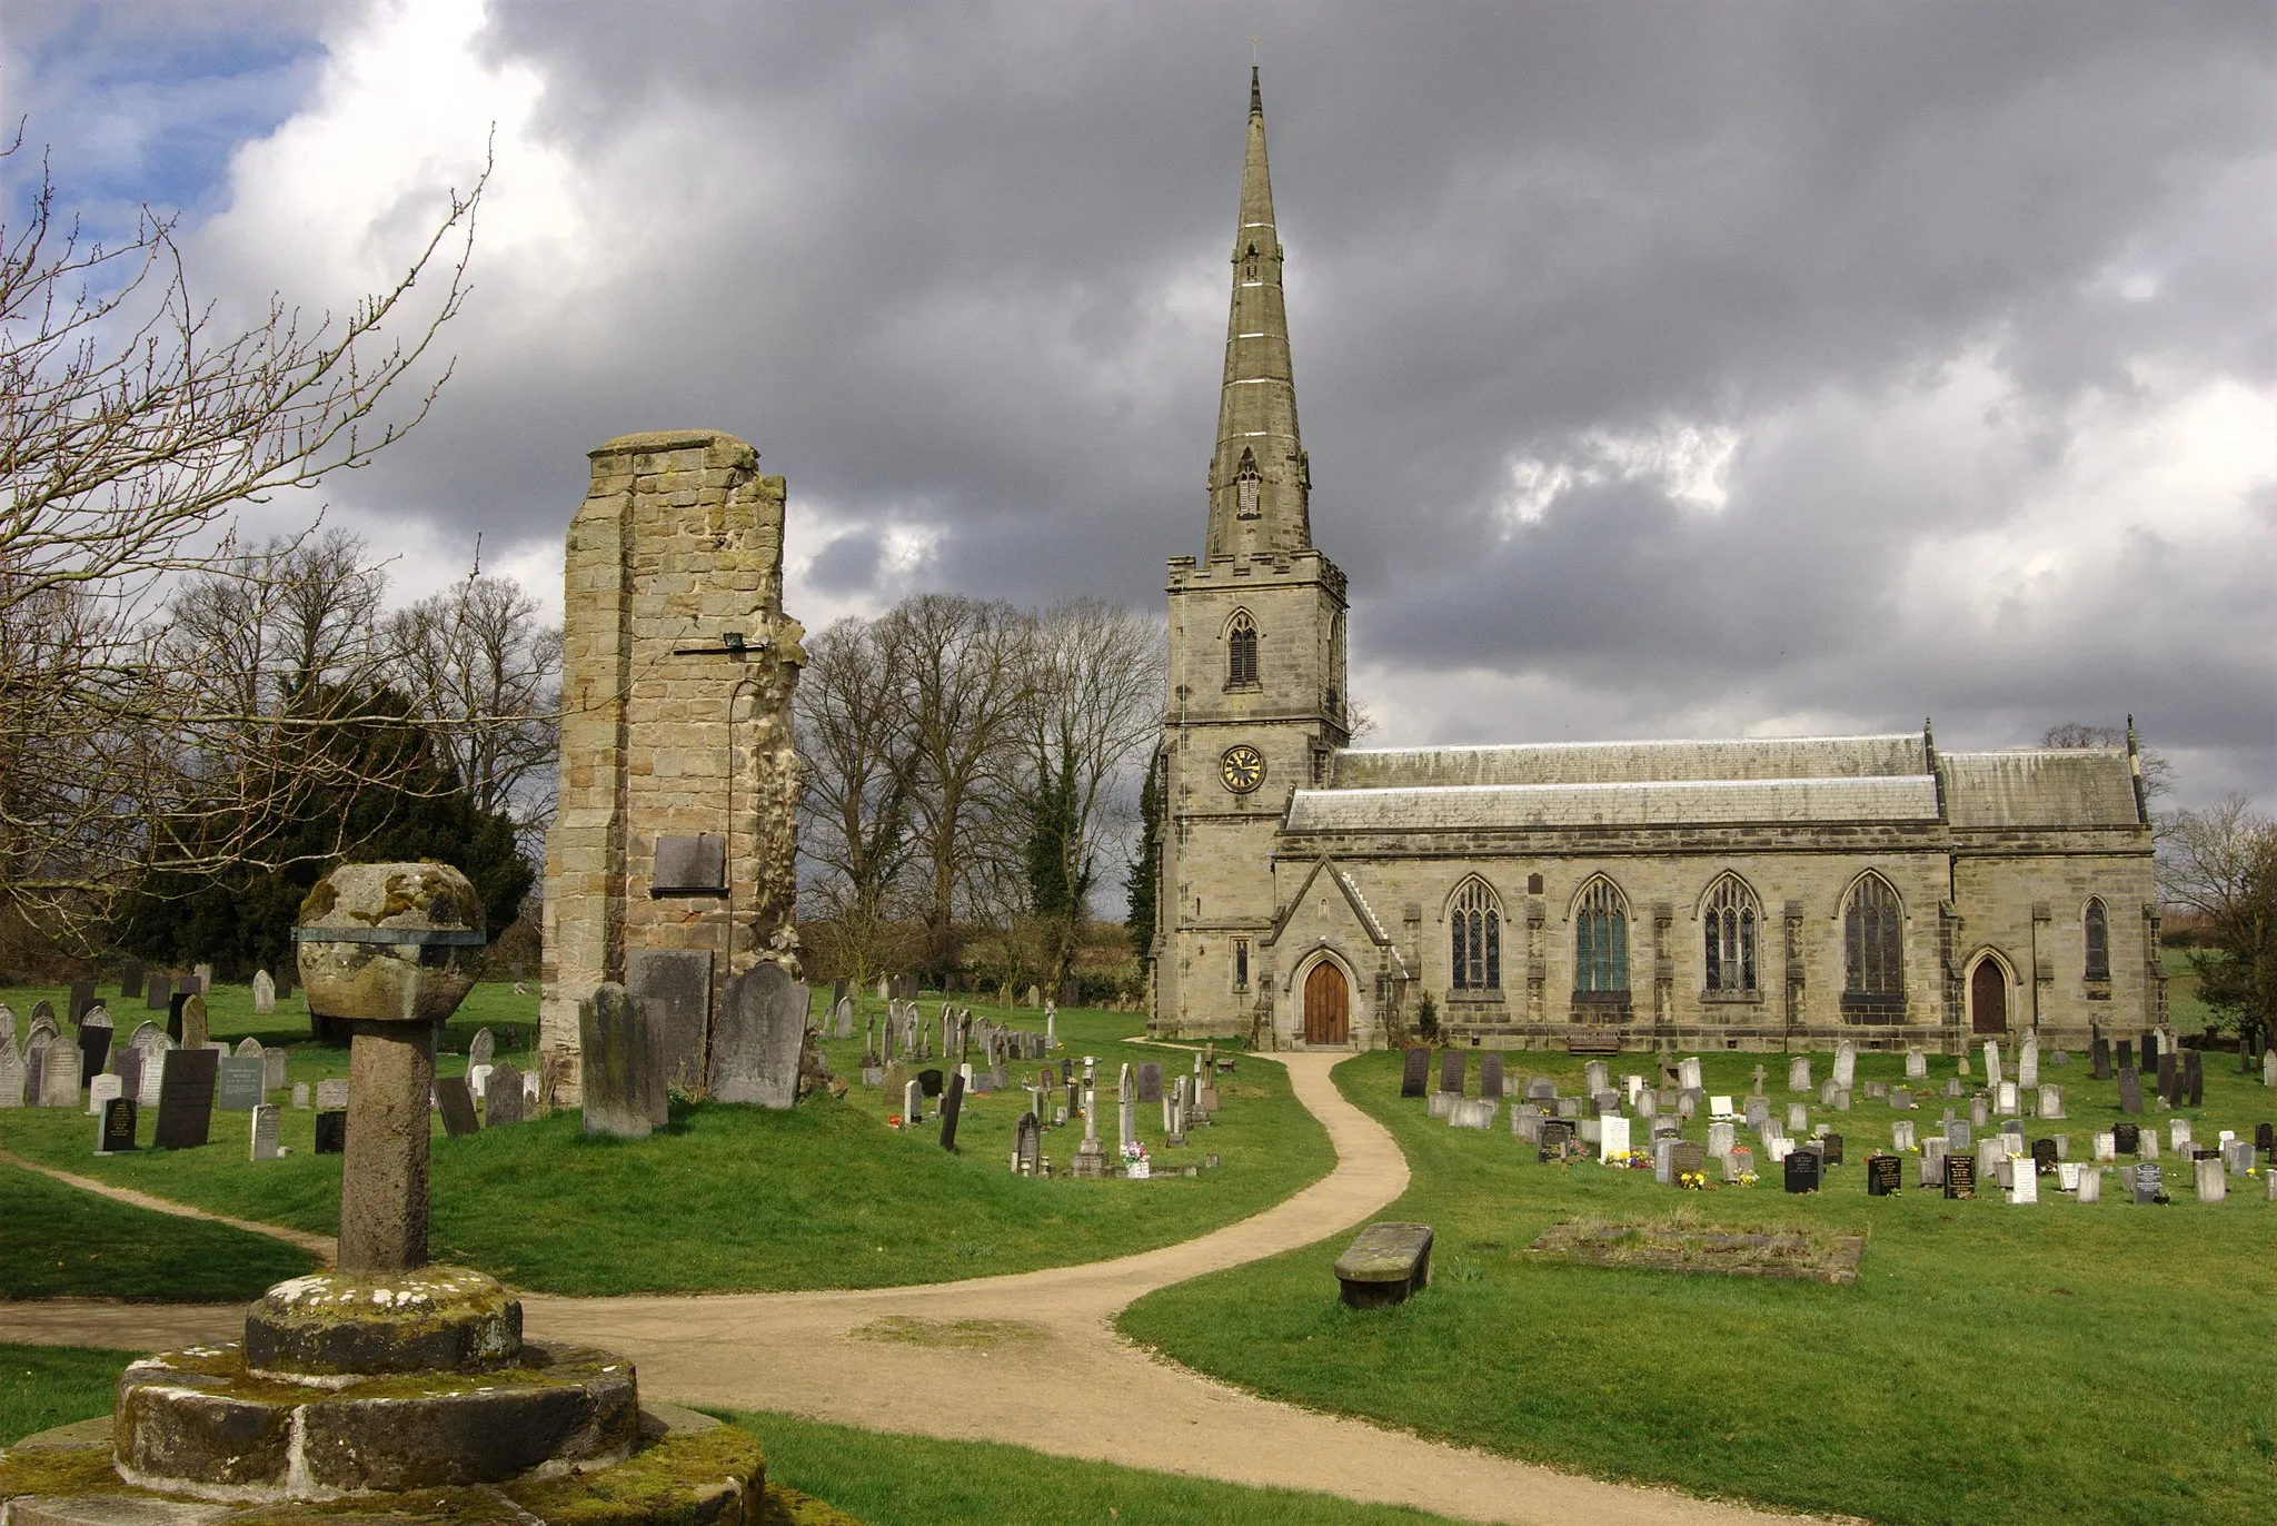
<path id="1" fill-rule="evenodd" d="M 806 638 L 799 674 L 799 852 L 813 884 L 808 936 L 854 982 L 902 947 L 902 891 L 918 845 L 918 749 L 904 647 L 847 617 Z M 827 929 L 827 932 L 824 932 Z"/>

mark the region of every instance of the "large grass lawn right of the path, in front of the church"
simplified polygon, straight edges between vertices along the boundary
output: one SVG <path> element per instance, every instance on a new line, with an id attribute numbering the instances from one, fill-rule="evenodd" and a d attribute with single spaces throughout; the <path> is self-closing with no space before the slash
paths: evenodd
<path id="1" fill-rule="evenodd" d="M 1762 1061 L 1783 1107 L 1785 1059 Z M 1746 1093 L 1753 1064 L 1705 1057 L 1708 1091 Z M 1580 1086 L 1564 1055 L 1510 1066 Z M 1931 1061 L 1938 1084 L 1951 1073 Z M 1858 1075 L 1899 1080 L 1904 1061 L 1860 1055 Z M 1337 1237 L 1152 1294 L 1123 1330 L 1275 1398 L 1601 1478 L 1876 1521 L 2270 1519 L 2277 1205 L 2259 1178 L 2220 1205 L 2181 1184 L 2172 1207 L 2134 1207 L 2106 1175 L 2099 1205 L 2049 1182 L 2038 1207 L 2008 1207 L 1997 1191 L 1920 1191 L 1908 1159 L 1901 1196 L 1867 1198 L 1856 1162 L 1904 1114 L 1860 1102 L 1824 1114 L 1851 1162 L 1824 1193 L 1676 1193 L 1651 1173 L 1535 1164 L 1501 1123 L 1450 1130 L 1400 1100 L 1398 1080 L 1382 1052 L 1337 1070 L 1414 1168 L 1382 1216 L 1435 1225 L 1425 1294 L 1343 1310 Z M 2083 1059 L 2042 1080 L 2063 1084 L 2070 1118 L 2027 1121 L 2027 1137 L 2070 1132 L 2086 1157 L 2090 1132 L 2118 1118 L 2118 1086 L 2090 1082 Z M 1942 1107 L 1910 1116 L 1933 1125 Z M 2250 1134 L 2277 1118 L 2277 1096 L 2209 1055 L 2206 1107 L 2184 1116 L 2202 1139 Z M 2172 1182 L 2172 1152 L 2161 1159 Z M 1532 1264 L 1523 1250 L 1557 1221 L 1669 1212 L 1860 1230 L 1858 1285 Z"/>

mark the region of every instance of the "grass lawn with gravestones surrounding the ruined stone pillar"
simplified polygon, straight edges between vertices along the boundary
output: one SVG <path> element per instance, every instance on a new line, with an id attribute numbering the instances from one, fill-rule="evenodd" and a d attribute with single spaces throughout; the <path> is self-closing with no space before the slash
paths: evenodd
<path id="1" fill-rule="evenodd" d="M 14 1004 L 23 988 L 9 995 Z M 535 1004 L 535 995 L 515 998 L 510 986 L 480 986 L 446 1029 L 458 1055 L 444 1057 L 439 1070 L 465 1070 L 465 1043 L 483 1020 L 501 1029 L 505 1057 L 503 1025 L 521 1023 L 533 1034 Z M 18 1014 L 27 1007 L 20 1002 Z M 216 991 L 209 1007 L 214 1036 L 298 1039 L 296 1082 L 346 1073 L 346 1052 L 305 1041 L 294 1018 L 255 1020 L 244 988 Z M 1043 1023 L 1034 1011 L 993 1016 Z M 1111 1084 L 1125 1059 L 1170 1068 L 1184 1061 L 1125 1043 L 1143 1023 L 1134 1014 L 1070 1011 L 1059 1032 L 1066 1052 L 1098 1055 Z M 576 1111 L 469 1139 L 444 1139 L 437 1123 L 435 1257 L 553 1294 L 943 1282 L 1189 1239 L 1271 1207 L 1334 1164 L 1327 1134 L 1271 1061 L 1241 1061 L 1220 1082 L 1218 1123 L 1189 1134 L 1182 1150 L 1161 1148 L 1157 1107 L 1138 1109 L 1141 1137 L 1159 1164 L 1220 1159 L 1198 1180 L 1077 1182 L 1009 1173 L 1025 1093 L 968 1098 L 959 1152 L 947 1155 L 936 1125 L 886 1127 L 899 1098 L 888 1105 L 861 1086 L 858 1039 L 824 1050 L 831 1068 L 854 1080 L 845 1100 L 808 1098 L 788 1114 L 674 1102 L 672 1125 L 644 1141 L 587 1141 Z M 1113 1114 L 1107 1118 L 1111 1130 Z M 287 1109 L 282 1141 L 291 1155 L 260 1164 L 246 1159 L 244 1114 L 216 1114 L 214 1143 L 203 1150 L 112 1159 L 93 1159 L 93 1118 L 64 1109 L 0 1111 L 0 1148 L 262 1223 L 314 1232 L 339 1223 L 339 1162 L 314 1155 L 314 1114 Z M 1075 1127 L 1047 1130 L 1043 1152 L 1066 1166 L 1077 1139 Z M 32 1239 L 57 1255 L 71 1244 L 46 1230 Z"/>

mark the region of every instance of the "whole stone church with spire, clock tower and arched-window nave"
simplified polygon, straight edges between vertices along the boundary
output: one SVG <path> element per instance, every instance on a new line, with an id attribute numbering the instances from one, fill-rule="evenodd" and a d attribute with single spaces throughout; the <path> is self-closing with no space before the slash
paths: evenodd
<path id="1" fill-rule="evenodd" d="M 1154 1032 L 1958 1052 L 2165 1018 L 2131 727 L 1353 747 L 1309 492 L 1252 71 L 1207 549 L 1168 565 Z"/>

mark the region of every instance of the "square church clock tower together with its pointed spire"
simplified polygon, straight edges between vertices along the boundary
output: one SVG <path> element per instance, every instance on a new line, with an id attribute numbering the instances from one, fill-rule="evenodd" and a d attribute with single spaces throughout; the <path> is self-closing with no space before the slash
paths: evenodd
<path id="1" fill-rule="evenodd" d="M 1170 558 L 1154 1027 L 1248 1034 L 1273 1004 L 1273 838 L 1350 740 L 1343 574 L 1312 544 L 1266 109 L 1250 71 L 1209 542 Z"/>

